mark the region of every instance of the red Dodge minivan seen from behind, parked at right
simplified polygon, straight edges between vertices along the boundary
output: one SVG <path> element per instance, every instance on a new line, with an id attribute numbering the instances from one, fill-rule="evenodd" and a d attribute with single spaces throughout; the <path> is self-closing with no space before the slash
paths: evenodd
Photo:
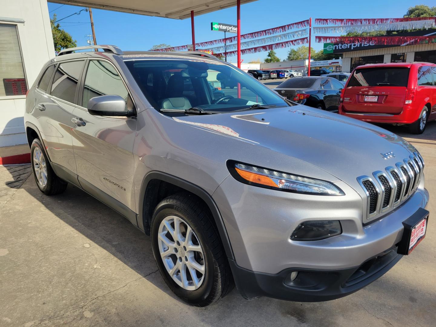
<path id="1" fill-rule="evenodd" d="M 371 123 L 407 124 L 411 133 L 421 134 L 436 119 L 436 65 L 358 66 L 341 91 L 339 113 Z"/>

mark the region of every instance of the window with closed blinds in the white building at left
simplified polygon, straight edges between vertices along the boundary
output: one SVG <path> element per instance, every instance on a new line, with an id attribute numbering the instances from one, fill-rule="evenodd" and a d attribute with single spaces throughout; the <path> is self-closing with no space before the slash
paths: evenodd
<path id="1" fill-rule="evenodd" d="M 26 93 L 27 83 L 17 25 L 0 24 L 0 96 Z"/>

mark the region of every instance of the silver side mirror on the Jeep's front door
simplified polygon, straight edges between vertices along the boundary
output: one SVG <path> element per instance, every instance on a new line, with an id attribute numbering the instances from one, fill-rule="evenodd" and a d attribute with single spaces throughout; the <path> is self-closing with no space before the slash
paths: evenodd
<path id="1" fill-rule="evenodd" d="M 89 99 L 88 112 L 93 116 L 133 116 L 119 95 L 100 95 Z"/>

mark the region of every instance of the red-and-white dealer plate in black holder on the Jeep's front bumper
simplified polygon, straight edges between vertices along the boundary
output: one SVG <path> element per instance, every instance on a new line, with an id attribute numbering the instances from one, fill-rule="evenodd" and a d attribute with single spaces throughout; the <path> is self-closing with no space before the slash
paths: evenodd
<path id="1" fill-rule="evenodd" d="M 419 208 L 412 216 L 403 221 L 403 236 L 398 245 L 398 253 L 410 254 L 426 237 L 429 211 Z"/>

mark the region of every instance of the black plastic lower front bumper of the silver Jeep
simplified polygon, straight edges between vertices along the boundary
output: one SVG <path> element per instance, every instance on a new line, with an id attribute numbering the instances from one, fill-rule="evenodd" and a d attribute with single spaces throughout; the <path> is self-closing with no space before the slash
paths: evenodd
<path id="1" fill-rule="evenodd" d="M 229 260 L 236 287 L 245 299 L 268 296 L 280 300 L 320 302 L 338 299 L 374 282 L 391 269 L 402 255 L 388 249 L 361 266 L 336 270 L 289 268 L 277 274 L 254 272 Z M 292 272 L 298 272 L 294 280 Z"/>

